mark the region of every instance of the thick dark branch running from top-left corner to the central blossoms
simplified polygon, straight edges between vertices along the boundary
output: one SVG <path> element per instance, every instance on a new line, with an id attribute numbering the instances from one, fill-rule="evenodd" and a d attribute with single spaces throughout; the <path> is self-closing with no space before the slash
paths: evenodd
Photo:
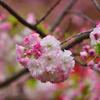
<path id="1" fill-rule="evenodd" d="M 20 23 L 27 26 L 28 28 L 35 30 L 37 33 L 39 33 L 42 37 L 45 37 L 46 35 L 39 30 L 36 26 L 31 25 L 27 23 L 21 16 L 19 16 L 10 6 L 8 6 L 3 0 L 0 0 L 0 5 L 5 8 L 11 15 L 13 15 Z"/>

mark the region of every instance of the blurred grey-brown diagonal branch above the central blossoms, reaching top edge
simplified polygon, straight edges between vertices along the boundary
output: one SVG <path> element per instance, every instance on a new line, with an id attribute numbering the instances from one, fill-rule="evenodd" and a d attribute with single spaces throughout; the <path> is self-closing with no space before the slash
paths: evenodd
<path id="1" fill-rule="evenodd" d="M 50 32 L 53 32 L 54 29 L 57 27 L 57 25 L 60 24 L 61 20 L 65 17 L 65 15 L 68 13 L 68 10 L 75 4 L 77 0 L 72 0 L 67 7 L 64 9 L 64 11 L 60 14 L 60 16 L 58 16 L 57 20 L 54 22 L 54 24 L 52 25 Z"/>

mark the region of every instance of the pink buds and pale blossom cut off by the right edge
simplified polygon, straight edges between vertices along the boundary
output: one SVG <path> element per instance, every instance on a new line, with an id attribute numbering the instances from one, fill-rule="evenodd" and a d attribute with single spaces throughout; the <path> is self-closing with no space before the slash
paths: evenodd
<path id="1" fill-rule="evenodd" d="M 89 61 L 87 66 L 89 66 L 91 69 L 94 69 L 97 72 L 100 72 L 100 61 L 95 62 L 97 56 L 100 54 L 100 24 L 98 24 L 96 28 L 94 28 L 93 31 L 90 33 L 90 38 L 91 46 L 84 46 L 83 49 L 85 51 L 80 52 L 80 55 L 84 60 L 87 60 L 88 56 L 94 56 L 94 59 Z M 93 49 L 90 49 L 92 47 Z"/>

